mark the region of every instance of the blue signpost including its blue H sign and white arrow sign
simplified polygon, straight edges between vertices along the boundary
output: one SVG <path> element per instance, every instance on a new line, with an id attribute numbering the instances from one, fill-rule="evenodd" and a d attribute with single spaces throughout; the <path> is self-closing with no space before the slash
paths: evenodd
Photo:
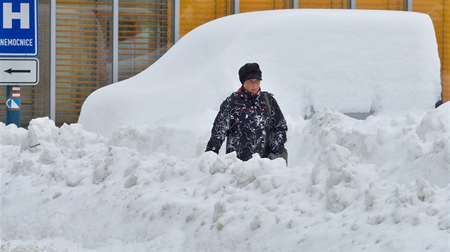
<path id="1" fill-rule="evenodd" d="M 37 4 L 37 0 L 0 0 L 0 57 L 38 56 Z M 0 85 L 6 85 L 6 125 L 20 127 L 18 85 L 38 82 L 37 58 L 0 58 Z"/>

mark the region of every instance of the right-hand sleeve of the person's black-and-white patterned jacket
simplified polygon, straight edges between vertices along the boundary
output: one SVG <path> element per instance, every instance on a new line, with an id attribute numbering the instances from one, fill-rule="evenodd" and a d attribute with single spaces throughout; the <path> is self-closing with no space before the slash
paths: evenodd
<path id="1" fill-rule="evenodd" d="M 272 107 L 272 125 L 274 125 L 274 140 L 271 145 L 270 152 L 274 154 L 280 154 L 281 149 L 284 148 L 284 143 L 286 142 L 286 132 L 287 125 L 286 120 L 284 120 L 283 112 L 276 103 L 273 95 L 271 95 L 271 107 Z"/>

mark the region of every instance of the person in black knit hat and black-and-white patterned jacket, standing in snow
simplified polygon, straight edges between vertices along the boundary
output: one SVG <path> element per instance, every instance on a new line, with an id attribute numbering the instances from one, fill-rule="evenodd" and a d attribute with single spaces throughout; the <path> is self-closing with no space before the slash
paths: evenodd
<path id="1" fill-rule="evenodd" d="M 206 152 L 219 154 L 226 138 L 226 153 L 236 152 L 244 161 L 258 153 L 260 157 L 283 157 L 288 130 L 274 95 L 261 91 L 262 72 L 258 63 L 246 63 L 239 69 L 241 87 L 224 100 L 211 130 Z"/>

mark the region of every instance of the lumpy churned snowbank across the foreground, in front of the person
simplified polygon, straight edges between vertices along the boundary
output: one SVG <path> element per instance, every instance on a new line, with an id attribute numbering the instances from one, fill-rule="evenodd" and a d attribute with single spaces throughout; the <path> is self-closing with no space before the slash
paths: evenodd
<path id="1" fill-rule="evenodd" d="M 181 133 L 164 128 L 0 123 L 1 251 L 448 251 L 449 120 L 450 103 L 318 110 L 291 125 L 289 167 L 167 154 Z"/>

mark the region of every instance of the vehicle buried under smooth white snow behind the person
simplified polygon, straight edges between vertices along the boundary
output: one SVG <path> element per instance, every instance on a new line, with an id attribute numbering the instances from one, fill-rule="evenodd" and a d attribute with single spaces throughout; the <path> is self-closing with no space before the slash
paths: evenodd
<path id="1" fill-rule="evenodd" d="M 293 120 L 324 107 L 430 109 L 441 95 L 436 36 L 426 14 L 260 11 L 194 29 L 144 72 L 92 93 L 79 122 L 103 135 L 124 125 L 210 130 L 196 122 L 214 120 L 248 62 L 261 65 L 261 88 L 274 93 Z"/>

